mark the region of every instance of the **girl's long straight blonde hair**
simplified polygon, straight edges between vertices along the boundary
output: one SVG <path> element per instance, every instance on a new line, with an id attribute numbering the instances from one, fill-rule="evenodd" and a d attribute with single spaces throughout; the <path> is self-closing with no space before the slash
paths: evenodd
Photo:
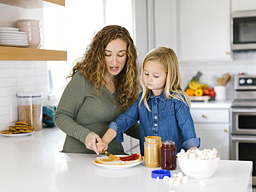
<path id="1" fill-rule="evenodd" d="M 140 103 L 143 101 L 147 110 L 151 111 L 147 104 L 147 96 L 149 95 L 149 88 L 145 86 L 143 82 L 143 69 L 147 61 L 158 61 L 165 73 L 167 73 L 165 83 L 165 97 L 167 99 L 179 99 L 184 102 L 187 106 L 190 106 L 190 97 L 182 89 L 181 75 L 179 72 L 179 62 L 176 57 L 174 50 L 171 48 L 158 47 L 147 53 L 143 64 L 140 75 L 140 84 L 143 88 L 143 95 L 140 99 Z"/>

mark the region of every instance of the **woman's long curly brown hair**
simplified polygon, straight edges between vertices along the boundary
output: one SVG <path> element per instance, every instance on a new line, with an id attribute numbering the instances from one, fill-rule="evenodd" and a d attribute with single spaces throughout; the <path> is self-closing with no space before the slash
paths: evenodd
<path id="1" fill-rule="evenodd" d="M 122 39 L 127 42 L 126 64 L 113 79 L 118 92 L 117 102 L 120 102 L 120 107 L 126 110 L 138 98 L 139 93 L 137 52 L 126 28 L 106 26 L 96 33 L 82 61 L 77 62 L 72 74 L 68 77 L 72 77 L 77 70 L 80 70 L 80 73 L 94 84 L 95 90 L 100 94 L 106 85 L 104 74 L 107 69 L 104 63 L 104 49 L 113 39 Z"/>

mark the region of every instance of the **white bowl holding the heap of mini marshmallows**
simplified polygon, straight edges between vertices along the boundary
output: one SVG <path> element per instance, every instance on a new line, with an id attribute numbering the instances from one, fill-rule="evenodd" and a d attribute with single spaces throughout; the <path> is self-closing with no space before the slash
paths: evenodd
<path id="1" fill-rule="evenodd" d="M 181 171 L 193 179 L 206 179 L 211 177 L 219 166 L 219 156 L 213 160 L 185 160 L 178 157 Z"/>

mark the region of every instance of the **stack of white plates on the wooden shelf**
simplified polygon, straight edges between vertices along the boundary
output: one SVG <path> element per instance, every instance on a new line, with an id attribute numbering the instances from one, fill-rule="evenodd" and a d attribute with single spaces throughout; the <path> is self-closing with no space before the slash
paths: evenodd
<path id="1" fill-rule="evenodd" d="M 19 28 L 0 27 L 0 46 L 26 47 L 28 39 L 26 32 L 19 31 Z"/>

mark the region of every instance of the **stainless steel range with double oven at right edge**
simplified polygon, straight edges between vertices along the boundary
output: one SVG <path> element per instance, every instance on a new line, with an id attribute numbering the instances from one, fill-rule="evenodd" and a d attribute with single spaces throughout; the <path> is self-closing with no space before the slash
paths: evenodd
<path id="1" fill-rule="evenodd" d="M 256 75 L 237 75 L 230 109 L 230 160 L 253 161 L 256 185 Z"/>

